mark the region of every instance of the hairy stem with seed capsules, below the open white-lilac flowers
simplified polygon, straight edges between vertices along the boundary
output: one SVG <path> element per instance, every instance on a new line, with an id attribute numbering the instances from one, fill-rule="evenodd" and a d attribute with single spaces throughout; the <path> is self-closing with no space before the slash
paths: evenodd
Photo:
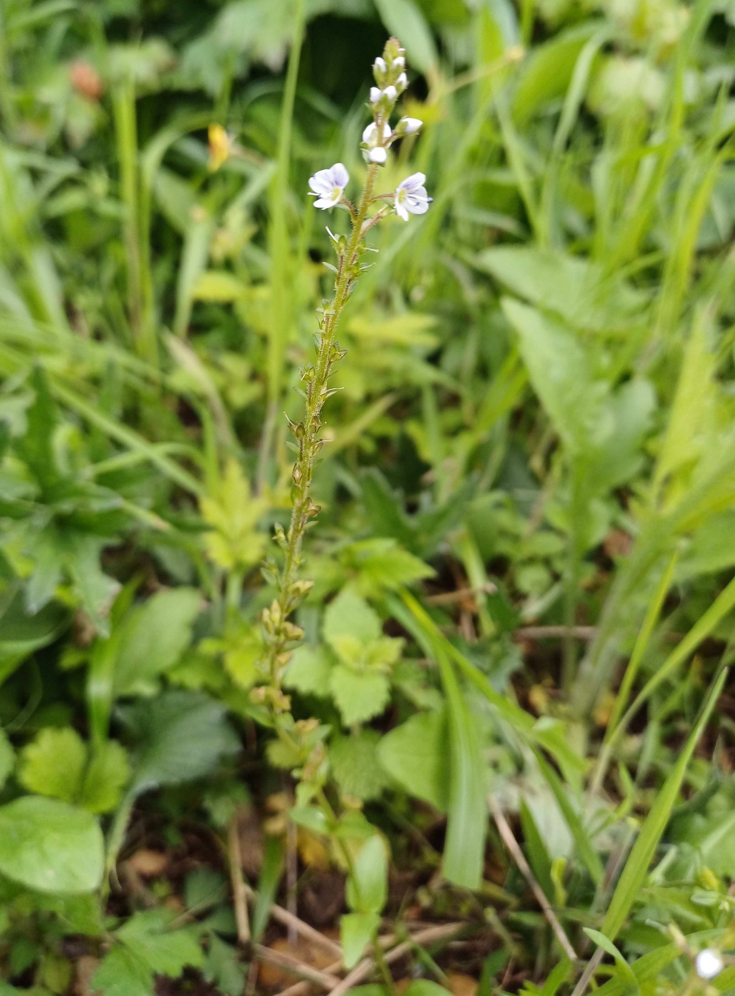
<path id="1" fill-rule="evenodd" d="M 334 298 L 322 309 L 316 363 L 302 372 L 306 394 L 304 420 L 291 425 L 299 443 L 299 456 L 292 472 L 294 508 L 288 534 L 277 535 L 286 554 L 284 566 L 277 576 L 278 597 L 263 614 L 263 626 L 268 638 L 265 662 L 271 678 L 271 692 L 276 696 L 271 704 L 276 709 L 279 706 L 277 697 L 280 672 L 289 657 L 287 645 L 301 635 L 298 627 L 288 622 L 288 617 L 311 588 L 311 582 L 299 581 L 297 575 L 307 525 L 319 513 L 319 507 L 311 498 L 311 484 L 317 456 L 323 445 L 320 435 L 322 408 L 331 393 L 329 379 L 335 364 L 344 356 L 335 342 L 335 334 L 340 316 L 360 273 L 363 239 L 369 224 L 367 208 L 372 200 L 376 172 L 377 166 L 370 163 L 360 205 L 353 218 L 350 239 L 347 246 L 339 250 Z M 261 695 L 263 694 L 261 691 Z"/>

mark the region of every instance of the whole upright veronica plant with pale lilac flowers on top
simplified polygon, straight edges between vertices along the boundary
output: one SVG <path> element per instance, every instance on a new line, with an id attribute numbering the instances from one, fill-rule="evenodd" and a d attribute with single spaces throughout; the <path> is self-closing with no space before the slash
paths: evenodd
<path id="1" fill-rule="evenodd" d="M 326 264 L 335 274 L 334 297 L 325 300 L 318 311 L 316 360 L 301 371 L 306 399 L 304 418 L 298 423 L 289 422 L 298 444 L 298 458 L 292 472 L 293 512 L 288 533 L 281 527 L 276 530 L 276 541 L 284 555 L 281 563 L 270 557 L 264 568 L 277 596 L 262 615 L 264 652 L 259 669 L 263 683 L 251 692 L 254 701 L 267 710 L 268 721 L 278 735 L 278 740 L 271 744 L 273 759 L 278 755 L 280 766 L 290 768 L 298 782 L 297 806 L 292 810 L 292 818 L 311 831 L 331 836 L 341 860 L 350 870 L 348 899 L 352 912 L 343 917 L 342 923 L 344 960 L 348 965 L 361 956 L 379 923 L 387 874 L 384 846 L 362 814 L 350 806 L 342 816 L 333 810 L 324 792 L 329 773 L 324 741 L 329 727 L 320 725 L 317 719 L 294 720 L 282 679 L 293 650 L 304 635 L 289 617 L 313 584 L 299 574 L 304 534 L 310 520 L 320 511 L 310 491 L 317 457 L 324 444 L 320 435 L 322 408 L 334 393 L 330 376 L 345 356 L 335 338 L 340 316 L 358 278 L 367 269 L 365 254 L 375 251 L 367 246 L 369 229 L 390 213 L 404 221 L 409 214 L 423 214 L 430 200 L 423 186 L 423 173 L 409 176 L 391 193 L 374 192 L 392 142 L 416 131 L 421 122 L 402 118 L 394 127 L 390 124 L 395 103 L 407 84 L 404 52 L 396 39 L 388 40 L 372 71 L 375 79 L 369 100 L 372 122 L 363 132 L 361 142 L 367 172 L 359 200 L 353 204 L 346 196 L 350 174 L 341 162 L 319 170 L 309 180 L 311 195 L 316 197 L 315 206 L 322 210 L 338 206 L 347 209 L 352 230 L 349 236 L 338 237 L 327 229 L 337 255 L 336 265 Z"/>

